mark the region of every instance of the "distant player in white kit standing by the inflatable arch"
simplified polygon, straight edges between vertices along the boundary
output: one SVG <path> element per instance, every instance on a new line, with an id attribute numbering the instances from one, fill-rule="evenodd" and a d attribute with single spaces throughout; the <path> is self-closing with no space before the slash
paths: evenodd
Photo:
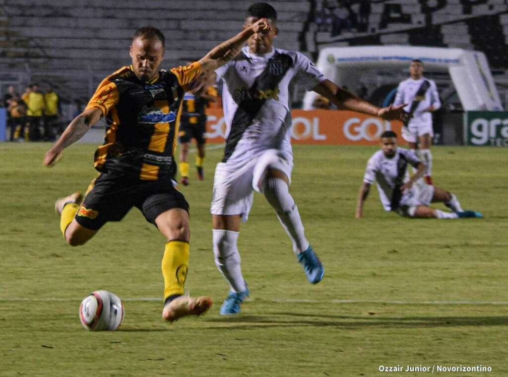
<path id="1" fill-rule="evenodd" d="M 434 131 L 432 129 L 432 112 L 441 107 L 436 83 L 423 77 L 423 63 L 416 59 L 409 66 L 410 78 L 402 81 L 395 95 L 394 105 L 407 103 L 404 110 L 411 117 L 409 122 L 402 128 L 402 137 L 409 144 L 409 149 L 416 152 L 418 141 L 420 151 L 418 153 L 425 163 L 425 182 L 432 185 L 432 153 L 430 146 Z"/>

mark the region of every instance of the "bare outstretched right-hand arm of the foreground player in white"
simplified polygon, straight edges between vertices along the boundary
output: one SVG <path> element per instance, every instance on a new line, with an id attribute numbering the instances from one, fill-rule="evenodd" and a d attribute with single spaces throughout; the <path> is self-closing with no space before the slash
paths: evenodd
<path id="1" fill-rule="evenodd" d="M 370 102 L 358 98 L 353 93 L 340 88 L 330 80 L 325 80 L 312 89 L 314 92 L 321 94 L 336 105 L 339 109 L 353 110 L 363 112 L 364 114 L 381 117 L 386 120 L 400 119 L 406 117 L 406 113 L 402 108 L 406 104 L 397 106 L 377 107 Z"/>

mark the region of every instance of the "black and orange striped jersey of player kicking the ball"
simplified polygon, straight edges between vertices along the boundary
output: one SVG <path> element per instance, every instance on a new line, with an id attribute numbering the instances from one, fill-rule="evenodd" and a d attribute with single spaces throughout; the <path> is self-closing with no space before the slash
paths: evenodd
<path id="1" fill-rule="evenodd" d="M 198 62 L 161 70 L 150 82 L 138 79 L 132 66 L 106 77 L 87 109 L 106 118 L 104 144 L 95 153 L 101 172 L 157 180 L 175 175 L 173 152 L 186 84 L 201 74 Z"/>

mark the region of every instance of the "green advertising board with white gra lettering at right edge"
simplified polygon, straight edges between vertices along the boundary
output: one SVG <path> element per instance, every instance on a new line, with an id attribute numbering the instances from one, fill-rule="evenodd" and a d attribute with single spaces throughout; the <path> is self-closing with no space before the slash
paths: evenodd
<path id="1" fill-rule="evenodd" d="M 508 111 L 467 111 L 464 144 L 508 147 Z"/>

